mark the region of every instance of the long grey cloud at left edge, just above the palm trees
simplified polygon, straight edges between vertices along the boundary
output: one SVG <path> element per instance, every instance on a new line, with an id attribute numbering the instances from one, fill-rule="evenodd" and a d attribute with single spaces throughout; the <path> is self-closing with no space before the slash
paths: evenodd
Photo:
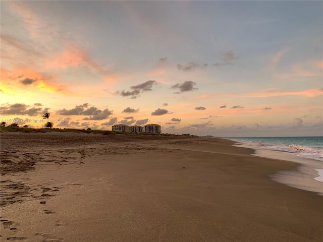
<path id="1" fill-rule="evenodd" d="M 48 108 L 41 107 L 31 107 L 24 103 L 15 103 L 9 104 L 5 103 L 1 105 L 1 114 L 2 115 L 29 115 L 36 116 L 48 112 Z"/>

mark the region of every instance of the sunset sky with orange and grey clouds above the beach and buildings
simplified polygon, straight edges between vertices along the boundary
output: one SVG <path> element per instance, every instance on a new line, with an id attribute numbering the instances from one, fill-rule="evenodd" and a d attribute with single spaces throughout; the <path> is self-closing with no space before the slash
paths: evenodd
<path id="1" fill-rule="evenodd" d="M 2 122 L 323 135 L 322 1 L 0 5 Z"/>

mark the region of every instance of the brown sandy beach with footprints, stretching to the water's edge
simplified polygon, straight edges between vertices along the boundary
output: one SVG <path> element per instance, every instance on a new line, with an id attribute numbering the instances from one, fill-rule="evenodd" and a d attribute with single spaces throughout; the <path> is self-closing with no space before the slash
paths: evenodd
<path id="1" fill-rule="evenodd" d="M 1 241 L 323 241 L 298 164 L 224 139 L 1 133 Z"/>

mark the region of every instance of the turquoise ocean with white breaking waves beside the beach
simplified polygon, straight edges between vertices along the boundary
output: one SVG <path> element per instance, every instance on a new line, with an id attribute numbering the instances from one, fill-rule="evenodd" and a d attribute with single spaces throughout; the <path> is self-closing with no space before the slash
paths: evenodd
<path id="1" fill-rule="evenodd" d="M 285 151 L 289 154 L 323 161 L 323 137 L 230 137 L 242 144 L 269 150 Z"/>

